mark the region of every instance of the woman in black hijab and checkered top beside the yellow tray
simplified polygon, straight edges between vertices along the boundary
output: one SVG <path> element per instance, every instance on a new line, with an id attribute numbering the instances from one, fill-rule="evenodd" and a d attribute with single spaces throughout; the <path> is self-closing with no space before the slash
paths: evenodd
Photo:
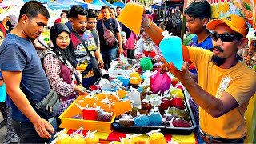
<path id="1" fill-rule="evenodd" d="M 44 68 L 50 86 L 59 96 L 61 108 L 58 114 L 60 115 L 78 95 L 86 94 L 86 92 L 83 91 L 82 86 L 78 86 L 79 77 L 82 78 L 82 76 L 74 69 L 74 50 L 70 42 L 70 30 L 65 24 L 55 24 L 50 29 L 50 40 L 54 47 L 44 58 Z M 59 125 L 58 115 L 56 119 Z"/>

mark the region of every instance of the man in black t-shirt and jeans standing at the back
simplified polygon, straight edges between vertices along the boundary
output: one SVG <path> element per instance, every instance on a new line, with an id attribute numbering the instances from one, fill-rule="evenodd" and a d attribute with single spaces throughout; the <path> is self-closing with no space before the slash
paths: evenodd
<path id="1" fill-rule="evenodd" d="M 113 18 L 110 18 L 109 7 L 102 6 L 101 14 L 102 14 L 102 20 L 98 20 L 97 30 L 99 35 L 101 54 L 104 61 L 104 68 L 108 70 L 110 67 L 110 62 L 116 59 L 117 51 L 118 51 L 118 54 L 123 53 L 122 38 L 121 38 L 120 31 L 118 30 L 118 21 Z M 102 22 L 104 22 L 104 25 L 106 26 L 106 28 L 114 34 L 115 38 L 118 39 L 118 42 L 114 46 L 108 46 L 106 44 L 106 40 L 104 39 L 104 30 L 103 30 Z"/>

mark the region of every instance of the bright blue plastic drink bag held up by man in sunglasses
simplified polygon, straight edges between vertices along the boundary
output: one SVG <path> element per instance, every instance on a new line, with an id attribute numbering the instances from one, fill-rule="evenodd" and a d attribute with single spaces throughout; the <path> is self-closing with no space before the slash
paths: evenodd
<path id="1" fill-rule="evenodd" d="M 182 70 L 183 57 L 182 57 L 182 40 L 177 36 L 171 36 L 168 31 L 162 32 L 164 38 L 160 42 L 160 50 L 163 58 L 166 59 L 168 64 L 174 63 L 178 70 Z"/>

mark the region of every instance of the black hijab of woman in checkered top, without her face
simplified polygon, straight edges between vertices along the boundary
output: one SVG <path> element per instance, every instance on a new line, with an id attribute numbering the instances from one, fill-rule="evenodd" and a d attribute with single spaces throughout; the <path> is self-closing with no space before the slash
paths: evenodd
<path id="1" fill-rule="evenodd" d="M 55 54 L 62 55 L 64 62 L 68 61 L 75 68 L 75 55 L 74 55 L 74 47 L 72 45 L 72 41 L 70 41 L 70 45 L 66 47 L 66 49 L 61 49 L 56 44 L 56 38 L 58 34 L 61 34 L 63 31 L 66 31 L 70 36 L 69 28 L 62 23 L 55 24 L 50 28 L 50 40 L 53 42 L 54 47 L 52 47 Z"/>

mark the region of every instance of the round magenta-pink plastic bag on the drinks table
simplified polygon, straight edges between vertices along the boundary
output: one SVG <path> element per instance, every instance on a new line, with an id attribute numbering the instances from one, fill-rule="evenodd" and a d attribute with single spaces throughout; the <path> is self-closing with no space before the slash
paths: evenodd
<path id="1" fill-rule="evenodd" d="M 154 94 L 158 93 L 158 91 L 164 93 L 170 88 L 170 84 L 171 79 L 166 72 L 161 74 L 160 70 L 158 70 L 156 74 L 150 77 L 150 88 Z"/>

